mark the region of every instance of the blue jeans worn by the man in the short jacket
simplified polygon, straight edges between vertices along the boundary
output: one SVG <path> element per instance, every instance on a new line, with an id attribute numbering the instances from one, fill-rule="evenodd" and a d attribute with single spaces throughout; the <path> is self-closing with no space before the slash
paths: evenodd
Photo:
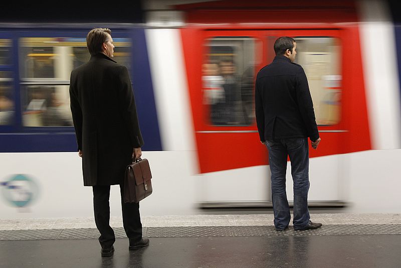
<path id="1" fill-rule="evenodd" d="M 304 228 L 309 223 L 309 146 L 308 138 L 267 140 L 272 181 L 274 226 L 283 229 L 291 220 L 285 190 L 287 156 L 290 157 L 291 175 L 294 183 L 294 227 Z"/>

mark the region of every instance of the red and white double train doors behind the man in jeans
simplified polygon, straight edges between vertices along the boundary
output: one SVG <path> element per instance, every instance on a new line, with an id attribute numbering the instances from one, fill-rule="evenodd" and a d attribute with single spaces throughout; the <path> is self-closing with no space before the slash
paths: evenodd
<path id="1" fill-rule="evenodd" d="M 193 86 L 195 83 L 189 81 L 199 167 L 203 174 L 199 183 L 201 206 L 213 201 L 237 205 L 243 201 L 248 206 L 261 201 L 259 204 L 266 205 L 271 200 L 267 150 L 259 142 L 254 117 L 254 82 L 257 72 L 274 59 L 273 45 L 279 36 L 291 36 L 297 42 L 296 63 L 303 66 L 308 77 L 323 141 L 318 150 L 310 148 L 309 200 L 322 205 L 328 204 L 324 201 L 344 198 L 343 163 L 339 154 L 347 151 L 343 141 L 349 137 L 350 117 L 344 116 L 344 107 L 350 105 L 352 93 L 343 90 L 343 58 L 350 55 L 350 49 L 344 52 L 343 32 L 336 29 L 206 30 L 203 47 L 198 47 L 203 54 L 192 55 L 202 66 L 197 69 L 202 76 L 196 77 L 200 83 Z M 356 91 L 363 91 L 360 81 L 352 84 L 353 70 L 346 68 L 348 87 L 356 85 L 361 87 L 355 88 Z M 188 71 L 188 77 L 192 75 Z M 288 168 L 287 195 L 292 200 L 290 174 Z"/>

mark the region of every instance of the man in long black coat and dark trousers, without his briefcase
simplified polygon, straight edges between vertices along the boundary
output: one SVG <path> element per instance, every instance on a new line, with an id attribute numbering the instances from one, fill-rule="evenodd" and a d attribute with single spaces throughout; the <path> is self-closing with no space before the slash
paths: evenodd
<path id="1" fill-rule="evenodd" d="M 129 249 L 147 246 L 142 238 L 139 203 L 124 203 L 124 172 L 132 158 L 142 155 L 131 81 L 125 66 L 113 57 L 114 45 L 109 29 L 97 28 L 88 33 L 89 62 L 71 72 L 71 112 L 82 157 L 84 186 L 93 188 L 95 222 L 99 229 L 102 256 L 114 252 L 114 231 L 110 220 L 110 185 L 120 185 L 121 206 Z"/>

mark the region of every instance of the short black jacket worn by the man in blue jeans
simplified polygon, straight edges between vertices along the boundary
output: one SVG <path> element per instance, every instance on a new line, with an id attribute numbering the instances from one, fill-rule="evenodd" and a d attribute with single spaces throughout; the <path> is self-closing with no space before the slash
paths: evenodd
<path id="1" fill-rule="evenodd" d="M 308 81 L 301 65 L 276 56 L 256 78 L 255 113 L 262 142 L 319 138 Z"/>

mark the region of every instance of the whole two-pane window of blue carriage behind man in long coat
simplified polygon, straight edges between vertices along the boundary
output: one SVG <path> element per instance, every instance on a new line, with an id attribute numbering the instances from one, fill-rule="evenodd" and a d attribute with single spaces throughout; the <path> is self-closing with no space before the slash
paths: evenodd
<path id="1" fill-rule="evenodd" d="M 120 64 L 129 63 L 129 39 L 115 38 L 113 41 L 113 59 Z M 89 59 L 85 38 L 20 39 L 20 89 L 24 126 L 73 125 L 70 74 Z"/>

